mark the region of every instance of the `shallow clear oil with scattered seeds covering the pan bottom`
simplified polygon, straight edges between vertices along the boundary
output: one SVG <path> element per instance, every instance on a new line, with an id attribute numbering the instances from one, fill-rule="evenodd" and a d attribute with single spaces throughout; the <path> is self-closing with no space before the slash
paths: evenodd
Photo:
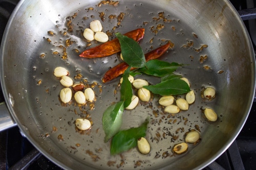
<path id="1" fill-rule="evenodd" d="M 154 12 L 151 9 L 154 9 Z M 37 111 L 34 116 L 38 124 L 44 126 L 40 128 L 47 132 L 40 134 L 41 138 L 56 141 L 59 147 L 71 153 L 72 157 L 97 168 L 158 168 L 179 159 L 180 156 L 175 156 L 172 149 L 175 144 L 184 142 L 186 132 L 196 129 L 204 140 L 207 126 L 217 127 L 221 123 L 220 114 L 217 122 L 210 124 L 202 113 L 206 105 L 215 109 L 218 100 L 218 93 L 216 99 L 211 102 L 201 98 L 204 87 L 218 87 L 215 79 L 218 71 L 209 64 L 211 55 L 207 50 L 208 46 L 200 39 L 200 32 L 190 29 L 177 15 L 151 4 L 126 2 L 117 6 L 101 3 L 100 7 L 82 7 L 69 16 L 61 17 L 63 20 L 57 21 L 56 27 L 49 28 L 45 33 L 42 42 L 44 50 L 38 51 L 39 60 L 37 58 L 37 62 L 32 65 L 35 84 L 31 86 L 31 91 L 36 91 L 38 95 L 33 98 L 35 100 L 31 101 L 31 104 Z M 137 149 L 132 149 L 121 156 L 110 156 L 110 142 L 103 142 L 102 114 L 111 103 L 120 100 L 120 78 L 106 84 L 103 84 L 101 79 L 105 71 L 120 62 L 120 58 L 119 54 L 96 59 L 78 56 L 83 50 L 99 44 L 96 41 L 88 42 L 82 36 L 83 30 L 88 28 L 94 19 L 101 21 L 103 32 L 108 33 L 110 39 L 115 38 L 115 32 L 126 33 L 137 28 L 145 28 L 145 36 L 139 42 L 144 53 L 171 41 L 172 49 L 160 59 L 186 64 L 177 70 L 177 74 L 189 80 L 190 89 L 196 94 L 196 101 L 189 106 L 188 111 L 181 111 L 176 115 L 164 113 L 158 104 L 160 96 L 154 95 L 151 102 L 140 102 L 135 110 L 126 110 L 123 114 L 125 121 L 122 129 L 138 127 L 150 117 L 146 134 L 151 144 L 151 153 L 148 155 L 142 155 Z M 93 105 L 79 107 L 74 99 L 70 104 L 61 104 L 59 91 L 63 87 L 59 79 L 53 76 L 53 70 L 57 66 L 67 68 L 74 82 L 82 82 L 93 87 L 96 94 Z M 220 70 L 219 74 L 222 72 Z M 146 79 L 152 84 L 159 81 L 143 76 L 137 78 Z M 184 98 L 184 95 L 176 97 Z M 90 119 L 93 123 L 92 128 L 88 131 L 76 130 L 74 121 L 79 117 Z M 188 145 L 188 152 L 197 147 L 195 144 Z"/>

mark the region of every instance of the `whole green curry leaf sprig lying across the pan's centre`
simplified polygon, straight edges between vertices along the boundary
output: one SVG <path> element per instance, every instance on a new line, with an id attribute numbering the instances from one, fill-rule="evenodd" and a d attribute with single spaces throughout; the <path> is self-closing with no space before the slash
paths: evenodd
<path id="1" fill-rule="evenodd" d="M 145 56 L 140 45 L 133 39 L 120 33 L 116 36 L 121 45 L 121 52 L 124 62 L 129 65 L 124 71 L 123 82 L 121 84 L 121 98 L 109 106 L 103 113 L 102 126 L 105 132 L 104 141 L 111 141 L 111 154 L 118 154 L 137 146 L 137 139 L 144 137 L 147 129 L 147 120 L 138 128 L 119 131 L 122 125 L 122 114 L 124 109 L 130 105 L 132 99 L 132 84 L 129 75 L 146 74 L 160 78 L 160 83 L 156 85 L 144 86 L 155 94 L 170 95 L 183 94 L 189 91 L 189 86 L 181 80 L 181 76 L 173 74 L 175 70 L 182 66 L 178 63 L 168 63 L 160 60 L 145 61 Z M 137 68 L 130 72 L 131 67 Z"/>

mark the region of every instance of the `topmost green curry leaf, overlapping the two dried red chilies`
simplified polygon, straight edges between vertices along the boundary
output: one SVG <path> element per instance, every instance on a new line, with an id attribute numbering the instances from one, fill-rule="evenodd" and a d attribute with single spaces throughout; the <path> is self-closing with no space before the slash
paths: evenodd
<path id="1" fill-rule="evenodd" d="M 120 33 L 116 33 L 115 35 L 121 45 L 123 60 L 131 67 L 144 67 L 146 60 L 138 42 Z"/>

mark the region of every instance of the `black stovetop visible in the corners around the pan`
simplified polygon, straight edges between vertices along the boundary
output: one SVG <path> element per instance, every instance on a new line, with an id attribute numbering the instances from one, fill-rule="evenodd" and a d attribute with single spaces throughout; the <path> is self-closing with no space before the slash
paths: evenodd
<path id="1" fill-rule="evenodd" d="M 0 40 L 11 12 L 18 0 L 0 0 Z M 233 0 L 233 6 L 240 10 L 255 8 L 256 0 Z M 251 15 L 255 15 L 252 13 Z M 249 18 L 250 16 L 245 16 Z M 244 20 L 250 34 L 254 51 L 256 49 L 256 19 Z M 0 105 L 4 102 L 2 89 Z M 0 109 L 1 115 L 1 109 Z M 1 117 L 1 116 L 0 116 Z M 204 169 L 256 169 L 256 102 L 253 103 L 248 119 L 238 135 L 215 162 Z M 15 139 L 15 140 L 13 140 Z M 18 163 L 17 163 L 18 162 Z M 61 169 L 45 156 L 20 133 L 18 127 L 0 132 L 0 169 Z"/>

